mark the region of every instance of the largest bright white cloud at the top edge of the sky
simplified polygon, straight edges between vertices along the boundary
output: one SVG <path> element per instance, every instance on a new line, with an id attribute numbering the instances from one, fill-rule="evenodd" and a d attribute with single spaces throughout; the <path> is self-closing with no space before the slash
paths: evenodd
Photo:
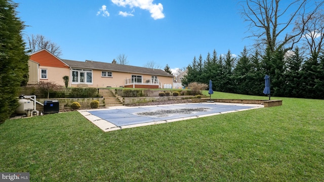
<path id="1" fill-rule="evenodd" d="M 154 20 L 163 19 L 165 17 L 163 14 L 163 5 L 160 3 L 153 4 L 153 0 L 111 0 L 111 2 L 117 6 L 129 6 L 130 8 L 136 7 L 147 10 Z"/>

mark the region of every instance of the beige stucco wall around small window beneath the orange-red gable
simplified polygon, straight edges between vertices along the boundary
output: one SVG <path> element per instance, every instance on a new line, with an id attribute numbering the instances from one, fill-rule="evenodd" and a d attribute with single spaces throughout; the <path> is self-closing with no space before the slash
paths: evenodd
<path id="1" fill-rule="evenodd" d="M 42 69 L 47 70 L 47 79 L 42 78 Z M 56 84 L 64 86 L 63 76 L 69 76 L 69 68 L 58 68 L 58 67 L 49 67 L 49 66 L 39 66 L 39 81 L 52 81 Z"/>

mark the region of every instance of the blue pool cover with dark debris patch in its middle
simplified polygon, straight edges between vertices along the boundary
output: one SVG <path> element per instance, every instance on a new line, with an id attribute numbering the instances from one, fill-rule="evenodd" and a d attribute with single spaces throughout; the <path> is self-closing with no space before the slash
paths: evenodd
<path id="1" fill-rule="evenodd" d="M 195 103 L 179 105 L 159 105 L 150 107 L 132 107 L 126 109 L 107 109 L 97 111 L 88 110 L 88 112 L 116 126 L 126 126 L 132 124 L 244 110 L 250 108 L 255 108 L 255 106 Z"/>

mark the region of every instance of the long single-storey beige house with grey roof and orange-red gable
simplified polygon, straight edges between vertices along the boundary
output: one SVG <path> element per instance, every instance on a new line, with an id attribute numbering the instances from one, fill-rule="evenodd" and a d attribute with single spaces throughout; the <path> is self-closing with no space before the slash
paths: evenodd
<path id="1" fill-rule="evenodd" d="M 37 80 L 64 85 L 63 76 L 69 76 L 69 86 L 72 87 L 163 88 L 173 82 L 173 75 L 164 70 L 120 65 L 115 60 L 104 63 L 59 59 L 45 49 L 30 54 L 29 63 L 28 83 Z"/>

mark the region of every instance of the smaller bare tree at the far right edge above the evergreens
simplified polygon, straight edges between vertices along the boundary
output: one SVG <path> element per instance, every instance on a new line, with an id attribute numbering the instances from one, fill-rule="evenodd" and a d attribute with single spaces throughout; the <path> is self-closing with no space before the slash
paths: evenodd
<path id="1" fill-rule="evenodd" d="M 307 50 L 310 55 L 319 55 L 322 46 L 324 45 L 324 13 L 323 11 L 318 11 L 308 18 L 309 21 L 303 25 L 300 22 L 296 22 L 296 27 L 294 30 L 300 31 L 304 29 L 302 37 L 302 45 L 305 50 Z"/>

